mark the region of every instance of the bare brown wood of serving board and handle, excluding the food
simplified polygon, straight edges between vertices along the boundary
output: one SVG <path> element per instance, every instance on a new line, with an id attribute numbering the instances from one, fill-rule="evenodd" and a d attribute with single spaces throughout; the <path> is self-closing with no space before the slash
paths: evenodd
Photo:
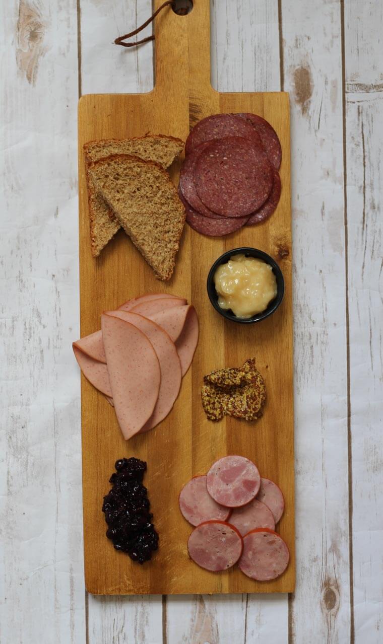
<path id="1" fill-rule="evenodd" d="M 156 7 L 159 0 L 155 1 Z M 290 120 L 286 93 L 219 93 L 210 85 L 209 0 L 195 0 L 186 16 L 166 8 L 155 23 L 155 88 L 146 94 L 87 95 L 79 102 L 79 235 L 81 336 L 100 328 L 103 310 L 147 292 L 169 292 L 188 299 L 199 315 L 200 336 L 192 368 L 182 381 L 175 406 L 155 430 L 126 443 L 113 408 L 82 377 L 83 506 L 86 588 L 93 594 L 291 592 L 295 584 L 293 334 L 291 293 Z M 132 52 L 126 52 L 129 64 Z M 155 279 L 152 269 L 119 232 L 97 260 L 90 252 L 83 144 L 147 132 L 186 139 L 190 126 L 219 112 L 257 113 L 267 118 L 282 144 L 282 196 L 277 211 L 262 225 L 244 227 L 224 238 L 208 238 L 185 226 L 173 278 Z M 177 182 L 179 164 L 172 170 Z M 225 321 L 210 305 L 206 277 L 222 252 L 253 246 L 279 261 L 286 295 L 279 310 L 255 325 Z M 267 387 L 264 416 L 251 424 L 206 419 L 202 378 L 213 369 L 240 366 L 255 356 Z M 182 518 L 178 495 L 193 475 L 214 460 L 240 454 L 254 460 L 262 476 L 277 482 L 286 510 L 277 528 L 290 548 L 286 572 L 272 582 L 254 582 L 234 567 L 209 573 L 188 558 L 191 527 Z M 160 549 L 151 562 L 134 564 L 106 538 L 101 512 L 115 460 L 146 460 L 148 488 Z"/>

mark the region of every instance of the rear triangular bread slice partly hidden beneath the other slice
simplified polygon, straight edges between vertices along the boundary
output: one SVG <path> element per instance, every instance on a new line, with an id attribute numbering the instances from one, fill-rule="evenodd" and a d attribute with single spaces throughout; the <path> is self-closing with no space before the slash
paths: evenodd
<path id="1" fill-rule="evenodd" d="M 88 187 L 88 206 L 90 219 L 90 239 L 93 257 L 99 256 L 104 246 L 120 228 L 113 211 L 97 193 L 89 180 L 88 167 L 91 163 L 113 154 L 129 154 L 144 160 L 155 161 L 166 168 L 172 165 L 184 147 L 181 138 L 166 137 L 161 134 L 136 138 L 105 138 L 84 144 L 86 183 Z"/>

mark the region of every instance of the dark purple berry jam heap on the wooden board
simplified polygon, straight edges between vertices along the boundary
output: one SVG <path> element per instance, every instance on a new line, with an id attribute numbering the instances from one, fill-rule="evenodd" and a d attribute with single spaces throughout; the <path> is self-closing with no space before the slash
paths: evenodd
<path id="1" fill-rule="evenodd" d="M 158 549 L 159 536 L 152 524 L 148 491 L 142 485 L 146 463 L 119 459 L 109 482 L 112 489 L 104 497 L 103 512 L 108 524 L 106 536 L 116 550 L 143 564 Z"/>

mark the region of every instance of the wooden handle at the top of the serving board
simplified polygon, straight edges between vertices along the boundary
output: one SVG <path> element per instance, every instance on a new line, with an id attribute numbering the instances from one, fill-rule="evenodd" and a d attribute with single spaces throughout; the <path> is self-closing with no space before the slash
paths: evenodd
<path id="1" fill-rule="evenodd" d="M 192 95 L 210 88 L 210 0 L 193 0 L 187 15 L 166 7 L 155 19 L 155 91 L 175 95 L 185 86 Z"/>

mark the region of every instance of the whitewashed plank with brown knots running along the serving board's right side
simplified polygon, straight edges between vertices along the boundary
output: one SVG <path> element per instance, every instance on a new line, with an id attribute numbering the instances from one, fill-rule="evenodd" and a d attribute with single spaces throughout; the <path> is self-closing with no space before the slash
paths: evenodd
<path id="1" fill-rule="evenodd" d="M 339 3 L 282 0 L 293 105 L 297 644 L 350 638 L 340 33 Z"/>

